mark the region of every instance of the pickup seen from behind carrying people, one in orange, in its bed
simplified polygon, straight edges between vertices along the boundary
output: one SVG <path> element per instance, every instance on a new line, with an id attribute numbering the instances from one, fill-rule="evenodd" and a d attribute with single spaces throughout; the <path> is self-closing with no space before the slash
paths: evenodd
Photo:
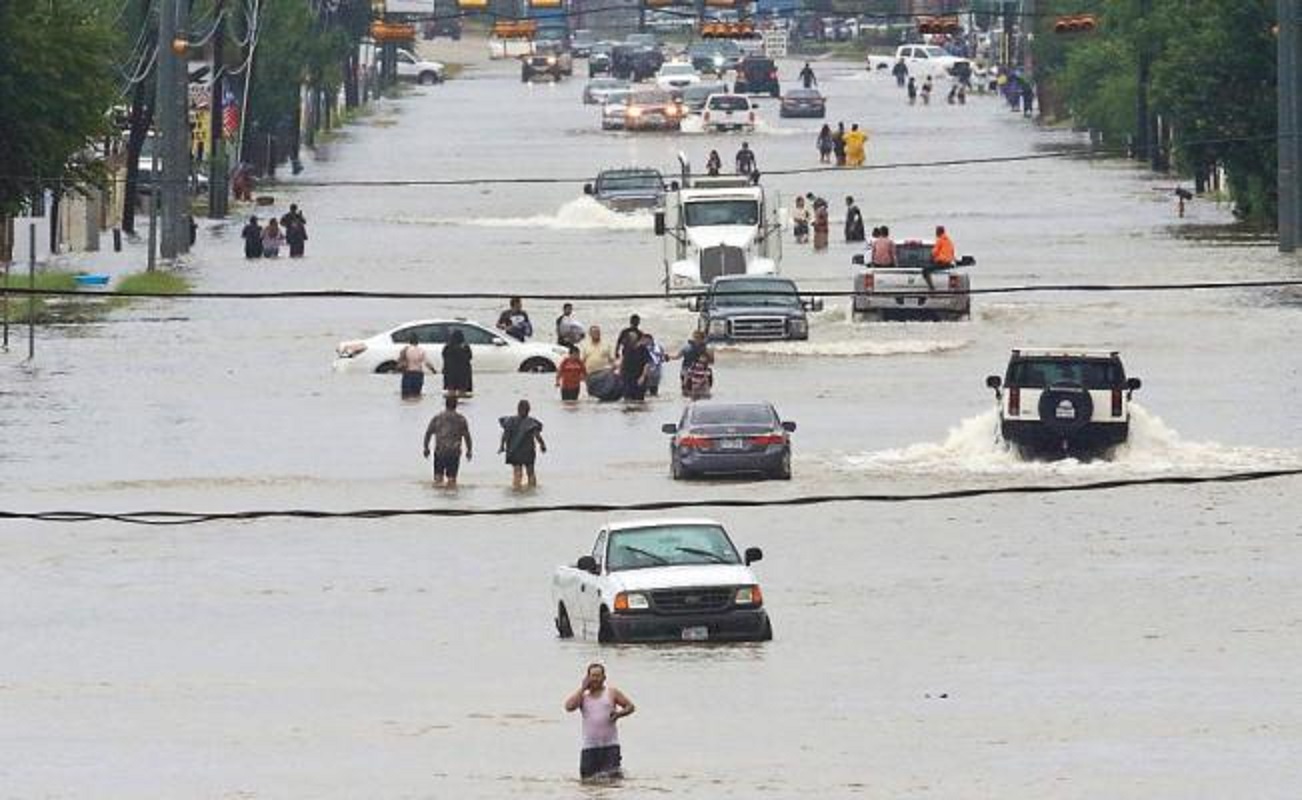
<path id="1" fill-rule="evenodd" d="M 971 317 L 970 280 L 961 267 L 971 267 L 976 259 L 963 255 L 953 266 L 936 264 L 931 261 L 932 244 L 918 240 L 896 244 L 896 263 L 892 267 L 866 264 L 862 253 L 852 258 L 854 319 L 940 321 Z"/>

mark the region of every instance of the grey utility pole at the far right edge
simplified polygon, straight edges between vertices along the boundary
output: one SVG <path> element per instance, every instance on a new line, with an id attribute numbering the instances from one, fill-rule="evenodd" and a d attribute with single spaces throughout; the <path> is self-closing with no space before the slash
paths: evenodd
<path id="1" fill-rule="evenodd" d="M 1298 25 L 1298 0 L 1279 0 L 1280 18 L 1279 40 L 1279 223 L 1280 253 L 1293 253 L 1302 237 L 1302 138 L 1298 137 L 1298 122 L 1302 113 L 1298 108 L 1298 89 L 1302 76 L 1298 74 L 1298 51 L 1302 48 L 1302 25 Z"/>

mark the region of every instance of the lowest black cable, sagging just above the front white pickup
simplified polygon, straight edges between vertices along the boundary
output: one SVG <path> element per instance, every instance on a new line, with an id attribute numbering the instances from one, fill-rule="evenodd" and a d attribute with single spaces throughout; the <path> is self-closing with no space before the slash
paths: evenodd
<path id="1" fill-rule="evenodd" d="M 1053 495 L 1087 491 L 1115 491 L 1150 486 L 1199 486 L 1219 483 L 1251 483 L 1275 478 L 1302 476 L 1297 469 L 1263 469 L 1219 476 L 1155 476 L 1148 478 L 1118 478 L 1090 483 L 1029 485 L 950 489 L 931 493 L 900 494 L 819 494 L 794 498 L 719 498 L 699 500 L 651 500 L 644 503 L 559 503 L 551 506 L 505 506 L 493 508 L 361 508 L 352 511 L 324 511 L 314 508 L 280 508 L 247 511 L 124 511 L 117 513 L 98 511 L 0 511 L 0 520 L 33 522 L 121 522 L 126 525 L 199 525 L 204 522 L 246 522 L 253 520 L 392 520 L 404 517 L 506 517 L 540 513 L 615 513 L 677 511 L 689 508 L 802 508 L 836 503 L 937 503 L 973 498 L 1006 495 Z"/>

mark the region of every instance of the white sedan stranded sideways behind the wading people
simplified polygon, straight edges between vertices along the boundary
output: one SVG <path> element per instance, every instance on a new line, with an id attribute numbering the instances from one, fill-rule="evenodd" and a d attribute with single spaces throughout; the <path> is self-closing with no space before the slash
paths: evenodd
<path id="1" fill-rule="evenodd" d="M 335 369 L 341 371 L 392 373 L 398 353 L 411 340 L 426 349 L 435 366 L 439 350 L 453 331 L 461 331 L 474 356 L 474 369 L 482 373 L 553 373 L 565 357 L 565 348 L 542 341 L 519 341 L 501 331 L 465 319 L 418 319 L 376 334 L 370 339 L 342 341 L 336 348 Z"/>

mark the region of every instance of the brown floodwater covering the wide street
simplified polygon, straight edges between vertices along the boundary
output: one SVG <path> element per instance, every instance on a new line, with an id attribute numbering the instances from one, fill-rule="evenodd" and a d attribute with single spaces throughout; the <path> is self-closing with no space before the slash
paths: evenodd
<path id="1" fill-rule="evenodd" d="M 799 64 L 783 63 L 794 82 Z M 910 108 L 885 76 L 818 65 L 833 124 L 868 164 L 1082 146 L 990 98 Z M 582 68 L 522 85 L 478 64 L 417 87 L 268 189 L 309 220 L 307 258 L 246 262 L 242 220 L 201 225 L 198 291 L 643 293 L 663 288 L 647 215 L 582 180 L 685 152 L 816 167 L 812 120 L 760 100 L 754 136 L 598 130 Z M 336 181 L 557 177 L 510 185 Z M 944 224 L 973 285 L 1295 279 L 1172 179 L 1116 160 L 772 175 L 832 203 L 832 246 L 786 233 L 783 274 L 850 288 L 844 197 L 868 227 Z M 1190 233 L 1193 231 L 1193 233 Z M 38 331 L 0 354 L 5 509 L 237 511 L 631 503 L 1060 485 L 1302 466 L 1294 343 L 1302 294 L 1234 289 L 979 294 L 961 323 L 852 323 L 829 297 L 807 344 L 720 348 L 716 397 L 772 401 L 799 427 L 794 479 L 671 481 L 681 400 L 562 407 L 551 375 L 475 375 L 477 440 L 456 495 L 428 486 L 439 399 L 332 369 L 335 345 L 401 322 L 492 324 L 496 300 L 180 300 Z M 665 301 L 577 301 L 613 335 L 630 313 L 678 347 Z M 560 302 L 526 301 L 542 339 Z M 1009 350 L 1120 350 L 1143 378 L 1112 461 L 1027 463 L 996 439 L 986 375 Z M 667 367 L 672 386 L 677 366 Z M 427 382 L 427 390 L 437 378 Z M 527 397 L 540 489 L 493 455 Z M 271 520 L 180 528 L 3 524 L 5 796 L 56 797 L 1290 797 L 1302 779 L 1302 500 L 1297 478 L 1044 496 L 706 509 L 756 564 L 762 645 L 562 641 L 552 569 L 602 515 Z M 616 515 L 622 519 L 621 515 Z M 577 780 L 561 702 L 590 661 L 638 704 L 621 787 Z"/>

